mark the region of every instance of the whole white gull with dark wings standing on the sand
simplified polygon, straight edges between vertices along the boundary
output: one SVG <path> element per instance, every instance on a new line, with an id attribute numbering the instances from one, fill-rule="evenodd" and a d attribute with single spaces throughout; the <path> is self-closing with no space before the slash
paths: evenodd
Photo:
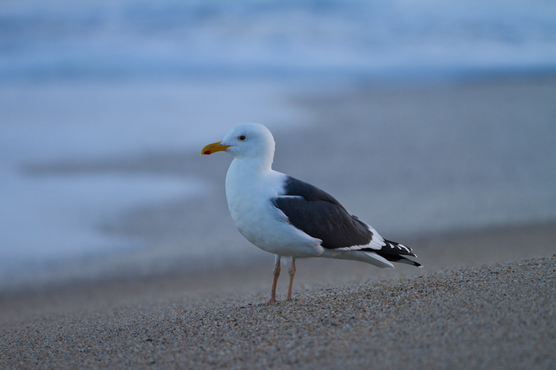
<path id="1" fill-rule="evenodd" d="M 318 187 L 272 169 L 275 141 L 261 124 L 238 124 L 220 142 L 204 146 L 201 155 L 225 151 L 234 156 L 226 175 L 231 218 L 245 239 L 275 254 L 268 303 L 276 303 L 281 258 L 291 260 L 287 300 L 291 300 L 295 259 L 324 257 L 357 260 L 377 267 L 391 262 L 422 267 L 405 256 L 411 248 L 384 239 L 350 215 Z"/>

